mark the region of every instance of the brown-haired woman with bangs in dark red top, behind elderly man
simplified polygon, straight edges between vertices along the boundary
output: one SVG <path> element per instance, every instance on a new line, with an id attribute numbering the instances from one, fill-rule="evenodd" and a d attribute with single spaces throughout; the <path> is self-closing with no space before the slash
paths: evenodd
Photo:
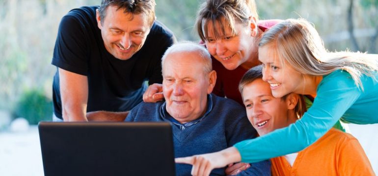
<path id="1" fill-rule="evenodd" d="M 195 27 L 213 58 L 218 96 L 227 97 L 243 105 L 238 90 L 244 73 L 259 65 L 260 36 L 280 20 L 258 22 L 254 0 L 206 0 L 197 14 Z M 151 85 L 143 95 L 145 102 L 162 100 L 162 87 Z"/>

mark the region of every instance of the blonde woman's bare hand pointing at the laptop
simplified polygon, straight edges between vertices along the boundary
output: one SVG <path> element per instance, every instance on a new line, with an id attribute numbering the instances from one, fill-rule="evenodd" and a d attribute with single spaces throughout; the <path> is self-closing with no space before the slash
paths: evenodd
<path id="1" fill-rule="evenodd" d="M 209 176 L 215 168 L 222 168 L 227 164 L 239 162 L 241 156 L 235 147 L 230 147 L 211 154 L 199 154 L 189 157 L 175 158 L 176 163 L 191 164 L 192 176 Z"/>

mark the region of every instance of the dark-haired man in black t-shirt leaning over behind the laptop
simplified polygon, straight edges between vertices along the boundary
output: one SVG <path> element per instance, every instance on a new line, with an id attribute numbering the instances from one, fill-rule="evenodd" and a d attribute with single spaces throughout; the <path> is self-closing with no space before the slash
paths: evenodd
<path id="1" fill-rule="evenodd" d="M 176 39 L 155 19 L 155 0 L 102 0 L 65 15 L 52 61 L 54 115 L 121 121 L 142 101 L 145 81 L 162 83 L 161 57 Z"/>

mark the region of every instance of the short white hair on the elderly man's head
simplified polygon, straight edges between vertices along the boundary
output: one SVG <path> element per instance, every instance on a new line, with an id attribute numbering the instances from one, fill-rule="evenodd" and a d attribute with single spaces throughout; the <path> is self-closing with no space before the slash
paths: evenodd
<path id="1" fill-rule="evenodd" d="M 213 70 L 211 56 L 210 56 L 209 51 L 200 44 L 196 44 L 194 42 L 188 42 L 188 41 L 183 41 L 177 44 L 173 44 L 165 51 L 164 55 L 162 56 L 162 68 L 164 66 L 165 58 L 168 55 L 174 54 L 174 53 L 182 53 L 182 52 L 190 52 L 190 53 L 197 52 L 198 55 L 200 55 L 202 58 L 205 73 L 210 73 Z"/>

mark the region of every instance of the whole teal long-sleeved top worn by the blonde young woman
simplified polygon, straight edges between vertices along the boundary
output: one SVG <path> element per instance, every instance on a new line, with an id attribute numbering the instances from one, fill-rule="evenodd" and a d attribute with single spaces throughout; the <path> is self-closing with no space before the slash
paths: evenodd
<path id="1" fill-rule="evenodd" d="M 323 76 L 311 108 L 288 127 L 234 145 L 242 162 L 252 163 L 305 149 L 341 118 L 355 124 L 378 123 L 378 73 L 361 76 L 358 88 L 345 70 Z"/>

